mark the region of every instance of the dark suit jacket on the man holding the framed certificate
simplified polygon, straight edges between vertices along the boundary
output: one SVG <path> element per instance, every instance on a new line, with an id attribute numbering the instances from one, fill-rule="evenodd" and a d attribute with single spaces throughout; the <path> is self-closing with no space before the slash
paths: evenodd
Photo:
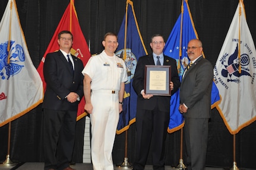
<path id="1" fill-rule="evenodd" d="M 141 90 L 144 89 L 144 74 L 145 65 L 154 65 L 153 54 L 140 57 L 138 59 L 135 75 L 133 78 L 132 86 L 135 92 L 138 94 L 137 108 L 144 110 L 153 110 L 156 106 L 160 111 L 170 110 L 170 97 L 169 96 L 157 96 L 151 97 L 150 100 L 145 100 L 141 95 Z M 163 65 L 170 65 L 171 67 L 171 81 L 173 82 L 174 89 L 171 94 L 174 94 L 178 89 L 181 82 L 179 81 L 179 75 L 176 66 L 176 60 L 168 56 L 164 56 Z M 169 84 L 168 84 L 169 85 Z"/>

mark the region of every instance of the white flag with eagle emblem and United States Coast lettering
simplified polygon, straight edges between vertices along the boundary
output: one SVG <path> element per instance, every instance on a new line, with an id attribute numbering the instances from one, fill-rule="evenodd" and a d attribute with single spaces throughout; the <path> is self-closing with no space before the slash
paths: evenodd
<path id="1" fill-rule="evenodd" d="M 256 50 L 239 1 L 214 67 L 222 101 L 217 106 L 231 134 L 256 120 Z"/>

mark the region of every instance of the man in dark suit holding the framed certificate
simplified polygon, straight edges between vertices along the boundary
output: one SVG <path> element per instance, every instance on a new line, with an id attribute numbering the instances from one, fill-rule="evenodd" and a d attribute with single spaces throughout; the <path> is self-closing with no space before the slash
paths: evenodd
<path id="1" fill-rule="evenodd" d="M 165 139 L 170 120 L 170 96 L 145 94 L 145 65 L 170 65 L 170 89 L 174 94 L 181 84 L 175 59 L 163 54 L 165 41 L 163 36 L 155 34 L 150 43 L 153 54 L 138 59 L 133 87 L 138 94 L 136 113 L 136 155 L 133 168 L 144 169 L 148 151 L 152 150 L 153 169 L 165 169 Z M 159 59 L 159 61 L 157 61 Z M 160 62 L 160 63 L 159 63 Z"/>

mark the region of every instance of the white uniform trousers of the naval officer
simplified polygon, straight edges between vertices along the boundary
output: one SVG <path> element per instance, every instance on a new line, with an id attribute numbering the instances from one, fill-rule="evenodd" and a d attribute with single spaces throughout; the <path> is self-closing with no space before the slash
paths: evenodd
<path id="1" fill-rule="evenodd" d="M 91 92 L 91 161 L 94 170 L 113 170 L 112 150 L 119 121 L 118 91 Z"/>

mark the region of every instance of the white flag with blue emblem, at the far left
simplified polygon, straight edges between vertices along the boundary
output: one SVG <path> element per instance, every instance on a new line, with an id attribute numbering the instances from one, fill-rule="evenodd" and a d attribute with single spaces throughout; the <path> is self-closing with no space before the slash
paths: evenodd
<path id="1" fill-rule="evenodd" d="M 0 37 L 0 126 L 4 126 L 43 101 L 43 83 L 30 59 L 14 0 L 5 8 Z"/>

